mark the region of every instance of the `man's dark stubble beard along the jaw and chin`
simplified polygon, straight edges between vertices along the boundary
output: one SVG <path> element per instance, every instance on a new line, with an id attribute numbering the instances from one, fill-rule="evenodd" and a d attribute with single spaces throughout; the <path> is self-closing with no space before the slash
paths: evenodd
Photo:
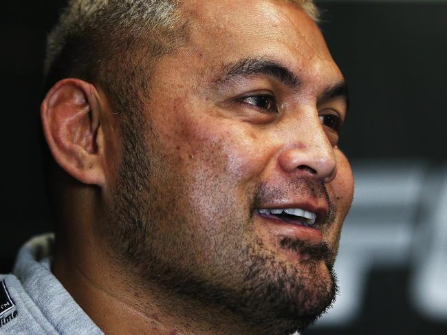
<path id="1" fill-rule="evenodd" d="M 194 248 L 203 243 L 203 236 L 188 232 L 203 224 L 193 222 L 190 208 L 182 215 L 182 190 L 168 189 L 176 182 L 187 183 L 175 177 L 165 180 L 166 166 L 154 162 L 153 149 L 143 139 L 135 128 L 132 133 L 124 132 L 120 177 L 109 198 L 104 234 L 120 265 L 146 288 L 156 286 L 175 299 L 189 301 L 195 306 L 194 315 L 204 306 L 223 308 L 254 334 L 290 334 L 314 323 L 334 302 L 338 288 L 331 267 L 334 252 L 327 244 L 281 237 L 279 245 L 298 253 L 298 263 L 284 261 L 268 250 L 261 239 L 254 238 L 253 208 L 261 188 L 254 187 L 247 200 L 250 208 L 239 208 L 245 210 L 245 217 L 240 217 L 241 210 L 227 208 L 227 212 L 239 212 L 239 217 L 216 218 L 233 229 L 210 241 L 213 260 L 203 263 Z M 162 150 L 155 151 L 162 155 Z M 168 159 L 160 157 L 159 161 Z M 232 204 L 232 199 L 221 199 L 222 203 Z M 178 230 L 170 229 L 173 221 Z M 319 277 L 322 262 L 327 271 Z"/>

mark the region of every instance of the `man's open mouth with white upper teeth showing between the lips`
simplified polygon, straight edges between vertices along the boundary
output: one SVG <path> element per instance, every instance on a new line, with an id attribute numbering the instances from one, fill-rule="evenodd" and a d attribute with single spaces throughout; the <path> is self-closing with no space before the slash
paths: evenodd
<path id="1" fill-rule="evenodd" d="M 268 219 L 281 220 L 287 224 L 296 224 L 298 226 L 313 226 L 315 228 L 316 213 L 301 208 L 257 209 L 255 212 L 261 217 Z"/>

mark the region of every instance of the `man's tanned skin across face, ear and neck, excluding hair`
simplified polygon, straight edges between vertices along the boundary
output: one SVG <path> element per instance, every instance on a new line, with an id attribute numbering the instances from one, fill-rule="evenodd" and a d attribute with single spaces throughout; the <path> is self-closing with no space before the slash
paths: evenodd
<path id="1" fill-rule="evenodd" d="M 342 74 L 285 1 L 182 12 L 189 43 L 157 63 L 138 117 L 81 80 L 43 103 L 49 147 L 77 181 L 53 271 L 107 334 L 290 334 L 336 292 L 353 177 L 337 147 L 346 97 L 327 92 Z M 57 108 L 72 117 L 45 121 Z M 57 141 L 63 127 L 86 153 Z M 262 208 L 303 208 L 316 226 Z"/>

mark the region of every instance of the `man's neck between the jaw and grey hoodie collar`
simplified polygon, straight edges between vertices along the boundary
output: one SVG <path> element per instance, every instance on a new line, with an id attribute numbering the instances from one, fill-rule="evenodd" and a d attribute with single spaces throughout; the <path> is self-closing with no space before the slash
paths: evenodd
<path id="1" fill-rule="evenodd" d="M 228 315 L 228 311 L 204 308 L 179 296 L 170 296 L 166 290 L 135 284 L 142 280 L 132 278 L 132 274 L 109 261 L 98 241 L 84 241 L 85 244 L 72 249 L 74 252 L 67 248 L 68 240 L 58 241 L 57 246 L 63 245 L 64 249 L 56 248 L 52 271 L 105 334 L 253 332 L 244 323 L 237 323 L 237 317 Z"/>

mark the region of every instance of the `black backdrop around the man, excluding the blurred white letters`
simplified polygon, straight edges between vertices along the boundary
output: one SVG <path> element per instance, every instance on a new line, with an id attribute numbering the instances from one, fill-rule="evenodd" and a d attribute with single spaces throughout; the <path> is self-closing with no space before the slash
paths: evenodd
<path id="1" fill-rule="evenodd" d="M 406 162 L 423 162 L 426 176 L 443 170 L 447 2 L 318 4 L 329 49 L 349 84 L 351 109 L 341 147 L 360 175 L 360 191 L 366 189 L 365 169 L 374 176 L 374 171 L 387 173 L 387 166 L 399 163 L 404 173 Z M 2 3 L 0 273 L 10 271 L 17 249 L 30 236 L 52 230 L 43 193 L 39 103 L 45 36 L 60 7 L 60 0 Z M 397 195 L 400 186 L 395 186 Z M 325 323 L 305 334 L 447 334 L 447 317 L 422 315 L 408 299 L 409 259 L 399 266 L 369 269 L 355 318 L 341 325 Z"/>

